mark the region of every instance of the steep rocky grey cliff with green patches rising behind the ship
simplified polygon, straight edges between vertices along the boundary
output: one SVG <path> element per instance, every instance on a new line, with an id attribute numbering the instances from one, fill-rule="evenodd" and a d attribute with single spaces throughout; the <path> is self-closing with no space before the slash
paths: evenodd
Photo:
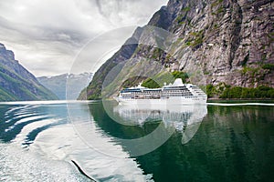
<path id="1" fill-rule="evenodd" d="M 173 36 L 147 34 L 147 26 L 138 28 L 128 41 L 135 39 L 139 44 L 121 46 L 100 67 L 87 88 L 88 99 L 100 98 L 102 83 L 113 67 L 144 56 L 170 72 L 199 70 L 204 85 L 216 86 L 213 89 L 216 95 L 235 86 L 273 88 L 273 6 L 271 0 L 170 0 L 153 15 L 148 25 L 163 28 Z M 143 42 L 150 44 L 140 44 Z M 153 42 L 163 45 L 164 51 L 153 46 Z M 145 78 L 131 77 L 131 73 L 136 75 L 137 69 L 154 69 L 149 64 L 134 67 L 120 70 L 122 82 L 131 79 L 130 85 L 135 85 Z M 116 93 L 121 88 L 113 84 L 109 87 Z"/>

